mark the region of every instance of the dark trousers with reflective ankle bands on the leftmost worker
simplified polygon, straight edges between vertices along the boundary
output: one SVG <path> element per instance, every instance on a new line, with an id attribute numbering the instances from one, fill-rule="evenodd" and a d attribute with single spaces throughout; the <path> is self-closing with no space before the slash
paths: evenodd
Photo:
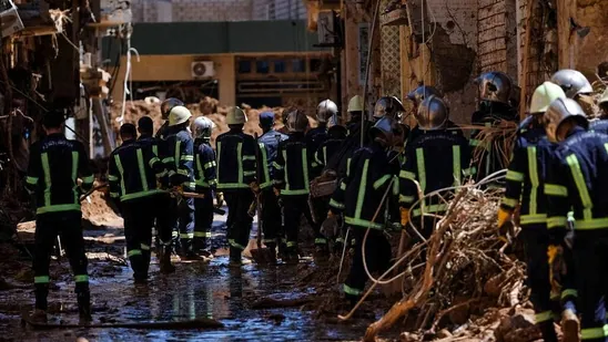
<path id="1" fill-rule="evenodd" d="M 60 211 L 39 215 L 36 218 L 34 235 L 34 292 L 36 309 L 47 310 L 47 297 L 49 294 L 49 265 L 51 252 L 57 236 L 61 237 L 61 243 L 70 260 L 70 267 L 74 273 L 75 292 L 81 302 L 89 302 L 89 274 L 87 273 L 87 256 L 84 253 L 84 239 L 80 211 Z"/>

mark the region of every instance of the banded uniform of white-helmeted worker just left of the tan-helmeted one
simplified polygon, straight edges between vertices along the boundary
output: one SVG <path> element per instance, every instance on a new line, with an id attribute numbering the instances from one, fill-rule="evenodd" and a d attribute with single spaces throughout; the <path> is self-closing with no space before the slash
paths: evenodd
<path id="1" fill-rule="evenodd" d="M 213 225 L 213 193 L 217 186 L 215 152 L 209 139 L 194 141 L 194 147 L 196 194 L 204 195 L 203 198 L 194 199 L 194 249 L 209 251 Z"/>

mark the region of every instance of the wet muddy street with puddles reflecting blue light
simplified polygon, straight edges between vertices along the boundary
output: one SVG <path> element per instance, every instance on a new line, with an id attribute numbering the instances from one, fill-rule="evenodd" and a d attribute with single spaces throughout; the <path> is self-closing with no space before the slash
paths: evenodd
<path id="1" fill-rule="evenodd" d="M 252 231 L 252 243 L 255 236 Z M 338 296 L 334 289 L 316 288 L 302 281 L 303 274 L 323 272 L 304 259 L 298 266 L 259 266 L 242 269 L 227 266 L 225 222 L 216 216 L 213 226 L 217 257 L 211 262 L 176 262 L 176 272 L 164 276 L 153 259 L 146 287 L 135 287 L 132 271 L 124 261 L 121 228 L 85 230 L 94 323 L 180 322 L 214 319 L 225 327 L 214 330 L 150 329 L 54 329 L 33 330 L 21 324 L 21 312 L 32 310 L 33 296 L 29 256 L 20 253 L 10 262 L 6 290 L 0 291 L 0 329 L 2 341 L 348 341 L 358 340 L 376 314 L 337 324 L 320 315 L 315 305 L 256 310 L 261 299 L 288 301 L 300 298 L 317 300 Z M 250 245 L 252 245 L 250 243 Z M 78 308 L 68 260 L 51 261 L 53 286 L 49 296 L 49 323 L 77 324 Z M 60 276 L 58 276 L 60 274 Z M 57 278 L 59 277 L 59 279 Z M 271 304 L 272 307 L 272 304 Z M 334 315 L 335 318 L 335 315 Z M 377 317 L 376 317 L 377 318 Z"/>

